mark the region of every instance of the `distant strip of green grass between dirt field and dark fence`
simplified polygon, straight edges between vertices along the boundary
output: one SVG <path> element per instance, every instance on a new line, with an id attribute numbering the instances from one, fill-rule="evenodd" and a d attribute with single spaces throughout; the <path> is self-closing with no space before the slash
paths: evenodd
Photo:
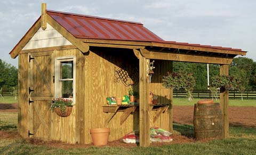
<path id="1" fill-rule="evenodd" d="M 204 99 L 193 99 L 193 101 L 189 102 L 188 99 L 185 98 L 173 98 L 174 105 L 193 105 L 197 103 L 198 100 Z M 214 102 L 220 103 L 219 100 L 213 100 Z M 229 99 L 229 106 L 237 106 L 237 107 L 256 107 L 256 100 L 233 100 Z"/>

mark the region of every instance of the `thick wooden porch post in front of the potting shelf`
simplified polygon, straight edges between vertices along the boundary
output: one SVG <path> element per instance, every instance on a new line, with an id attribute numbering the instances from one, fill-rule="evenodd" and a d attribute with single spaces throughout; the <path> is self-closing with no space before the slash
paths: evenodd
<path id="1" fill-rule="evenodd" d="M 149 77 L 147 68 L 149 60 L 140 53 L 140 146 L 150 145 L 150 111 L 149 111 Z"/>

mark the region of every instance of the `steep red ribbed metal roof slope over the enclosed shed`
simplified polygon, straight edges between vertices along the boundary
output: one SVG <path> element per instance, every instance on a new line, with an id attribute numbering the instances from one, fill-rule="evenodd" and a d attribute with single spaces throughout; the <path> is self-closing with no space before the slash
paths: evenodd
<path id="1" fill-rule="evenodd" d="M 162 42 L 142 23 L 47 10 L 55 21 L 76 38 Z"/>

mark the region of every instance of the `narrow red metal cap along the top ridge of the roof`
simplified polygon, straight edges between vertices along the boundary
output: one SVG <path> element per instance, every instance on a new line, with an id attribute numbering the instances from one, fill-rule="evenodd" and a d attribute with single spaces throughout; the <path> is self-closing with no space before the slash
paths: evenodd
<path id="1" fill-rule="evenodd" d="M 85 15 L 85 14 L 77 14 L 77 13 L 69 13 L 69 12 L 61 12 L 61 11 L 54 11 L 54 10 L 46 10 L 47 12 L 52 12 L 52 13 L 60 13 L 60 14 L 68 14 L 68 15 L 75 15 L 79 17 L 87 17 L 87 18 L 94 18 L 94 19 L 101 19 L 101 20 L 109 20 L 109 21 L 117 21 L 117 22 L 125 22 L 125 23 L 132 23 L 136 25 L 142 25 L 140 22 L 134 22 L 134 21 L 126 21 L 126 20 L 118 20 L 118 19 L 111 19 L 111 18 L 103 18 L 103 17 L 97 17 L 93 15 Z"/>

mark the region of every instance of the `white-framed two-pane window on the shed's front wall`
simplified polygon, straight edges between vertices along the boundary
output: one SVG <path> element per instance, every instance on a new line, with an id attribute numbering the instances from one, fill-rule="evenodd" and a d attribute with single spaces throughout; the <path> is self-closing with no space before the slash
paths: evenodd
<path id="1" fill-rule="evenodd" d="M 55 60 L 55 98 L 73 100 L 75 104 L 75 56 L 59 57 Z"/>

